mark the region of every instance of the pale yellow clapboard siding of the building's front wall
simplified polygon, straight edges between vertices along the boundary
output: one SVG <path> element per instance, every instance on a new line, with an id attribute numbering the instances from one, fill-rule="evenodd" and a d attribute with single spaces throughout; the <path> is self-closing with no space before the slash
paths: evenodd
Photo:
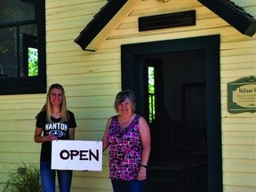
<path id="1" fill-rule="evenodd" d="M 234 0 L 256 17 L 255 0 Z M 101 140 L 121 90 L 121 44 L 154 42 L 197 36 L 220 35 L 221 130 L 224 192 L 256 190 L 256 113 L 228 113 L 229 82 L 256 76 L 255 35 L 244 36 L 196 0 L 162 4 L 141 0 L 106 36 L 96 52 L 84 52 L 76 36 L 100 11 L 107 0 L 46 0 L 47 85 L 63 84 L 68 109 L 76 116 L 76 140 Z M 170 12 L 196 10 L 196 26 L 138 31 L 138 18 Z M 6 168 L 39 163 L 40 144 L 33 140 L 35 116 L 45 94 L 0 96 L 0 178 Z M 0 188 L 2 186 L 0 185 Z M 72 192 L 112 191 L 108 179 L 108 151 L 102 172 L 74 172 Z"/>

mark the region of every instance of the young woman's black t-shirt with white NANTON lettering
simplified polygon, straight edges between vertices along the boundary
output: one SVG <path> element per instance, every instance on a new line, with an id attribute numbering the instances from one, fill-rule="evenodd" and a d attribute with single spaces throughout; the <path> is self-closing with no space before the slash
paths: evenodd
<path id="1" fill-rule="evenodd" d="M 52 122 L 46 121 L 46 111 L 41 112 L 36 119 L 36 127 L 42 128 L 44 136 L 53 134 L 58 137 L 58 140 L 68 140 L 68 129 L 76 128 L 76 119 L 71 111 L 69 113 L 69 120 L 60 123 L 60 118 L 51 116 Z M 40 161 L 51 162 L 52 158 L 52 141 L 45 141 L 42 143 Z"/>

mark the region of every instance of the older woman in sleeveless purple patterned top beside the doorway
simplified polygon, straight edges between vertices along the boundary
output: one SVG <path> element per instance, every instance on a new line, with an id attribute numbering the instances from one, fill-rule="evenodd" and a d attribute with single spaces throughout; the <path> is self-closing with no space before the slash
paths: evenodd
<path id="1" fill-rule="evenodd" d="M 150 154 L 150 130 L 143 116 L 135 112 L 134 93 L 116 94 L 114 108 L 103 135 L 103 150 L 109 149 L 109 178 L 114 192 L 142 192 L 146 188 Z"/>

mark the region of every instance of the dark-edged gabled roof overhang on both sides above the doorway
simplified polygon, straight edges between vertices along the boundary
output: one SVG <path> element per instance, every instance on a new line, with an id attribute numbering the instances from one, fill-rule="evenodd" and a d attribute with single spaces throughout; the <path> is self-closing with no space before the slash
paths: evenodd
<path id="1" fill-rule="evenodd" d="M 132 12 L 141 0 L 108 0 L 91 22 L 76 37 L 75 43 L 85 51 L 95 52 L 118 27 L 122 20 Z M 220 18 L 246 36 L 253 36 L 256 31 L 256 20 L 252 15 L 230 0 L 197 0 Z"/>

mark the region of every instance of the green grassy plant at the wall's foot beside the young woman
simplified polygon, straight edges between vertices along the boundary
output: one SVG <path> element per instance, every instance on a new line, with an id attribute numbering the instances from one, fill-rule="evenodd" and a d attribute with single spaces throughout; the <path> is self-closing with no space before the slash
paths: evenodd
<path id="1" fill-rule="evenodd" d="M 40 183 L 39 169 L 32 164 L 24 164 L 15 172 L 9 172 L 9 179 L 4 184 L 2 192 L 43 192 Z"/>

